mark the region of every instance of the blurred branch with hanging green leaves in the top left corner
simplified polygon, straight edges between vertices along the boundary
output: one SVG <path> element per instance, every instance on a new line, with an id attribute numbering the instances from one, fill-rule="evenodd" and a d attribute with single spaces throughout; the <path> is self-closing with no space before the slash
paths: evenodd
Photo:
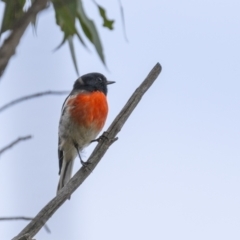
<path id="1" fill-rule="evenodd" d="M 5 11 L 3 14 L 2 26 L 0 30 L 0 36 L 2 33 L 10 30 L 11 34 L 4 41 L 0 48 L 0 77 L 10 60 L 16 51 L 16 47 L 20 42 L 29 23 L 33 23 L 35 26 L 38 13 L 53 4 L 55 11 L 56 24 L 63 32 L 63 40 L 60 43 L 61 47 L 66 41 L 69 44 L 70 53 L 74 63 L 77 74 L 77 59 L 73 45 L 73 38 L 76 36 L 83 46 L 87 46 L 84 42 L 84 38 L 80 35 L 76 25 L 79 23 L 83 30 L 83 34 L 86 39 L 95 47 L 98 56 L 102 63 L 105 65 L 105 57 L 103 53 L 102 43 L 93 20 L 91 20 L 83 7 L 82 0 L 31 0 L 32 5 L 27 11 L 24 11 L 24 7 L 28 3 L 28 0 L 1 0 L 5 3 Z M 106 14 L 106 10 L 95 2 L 100 17 L 103 20 L 103 27 L 113 30 L 114 20 L 109 20 Z M 122 9 L 121 9 L 122 11 Z M 57 49 L 59 48 L 57 47 Z"/>

